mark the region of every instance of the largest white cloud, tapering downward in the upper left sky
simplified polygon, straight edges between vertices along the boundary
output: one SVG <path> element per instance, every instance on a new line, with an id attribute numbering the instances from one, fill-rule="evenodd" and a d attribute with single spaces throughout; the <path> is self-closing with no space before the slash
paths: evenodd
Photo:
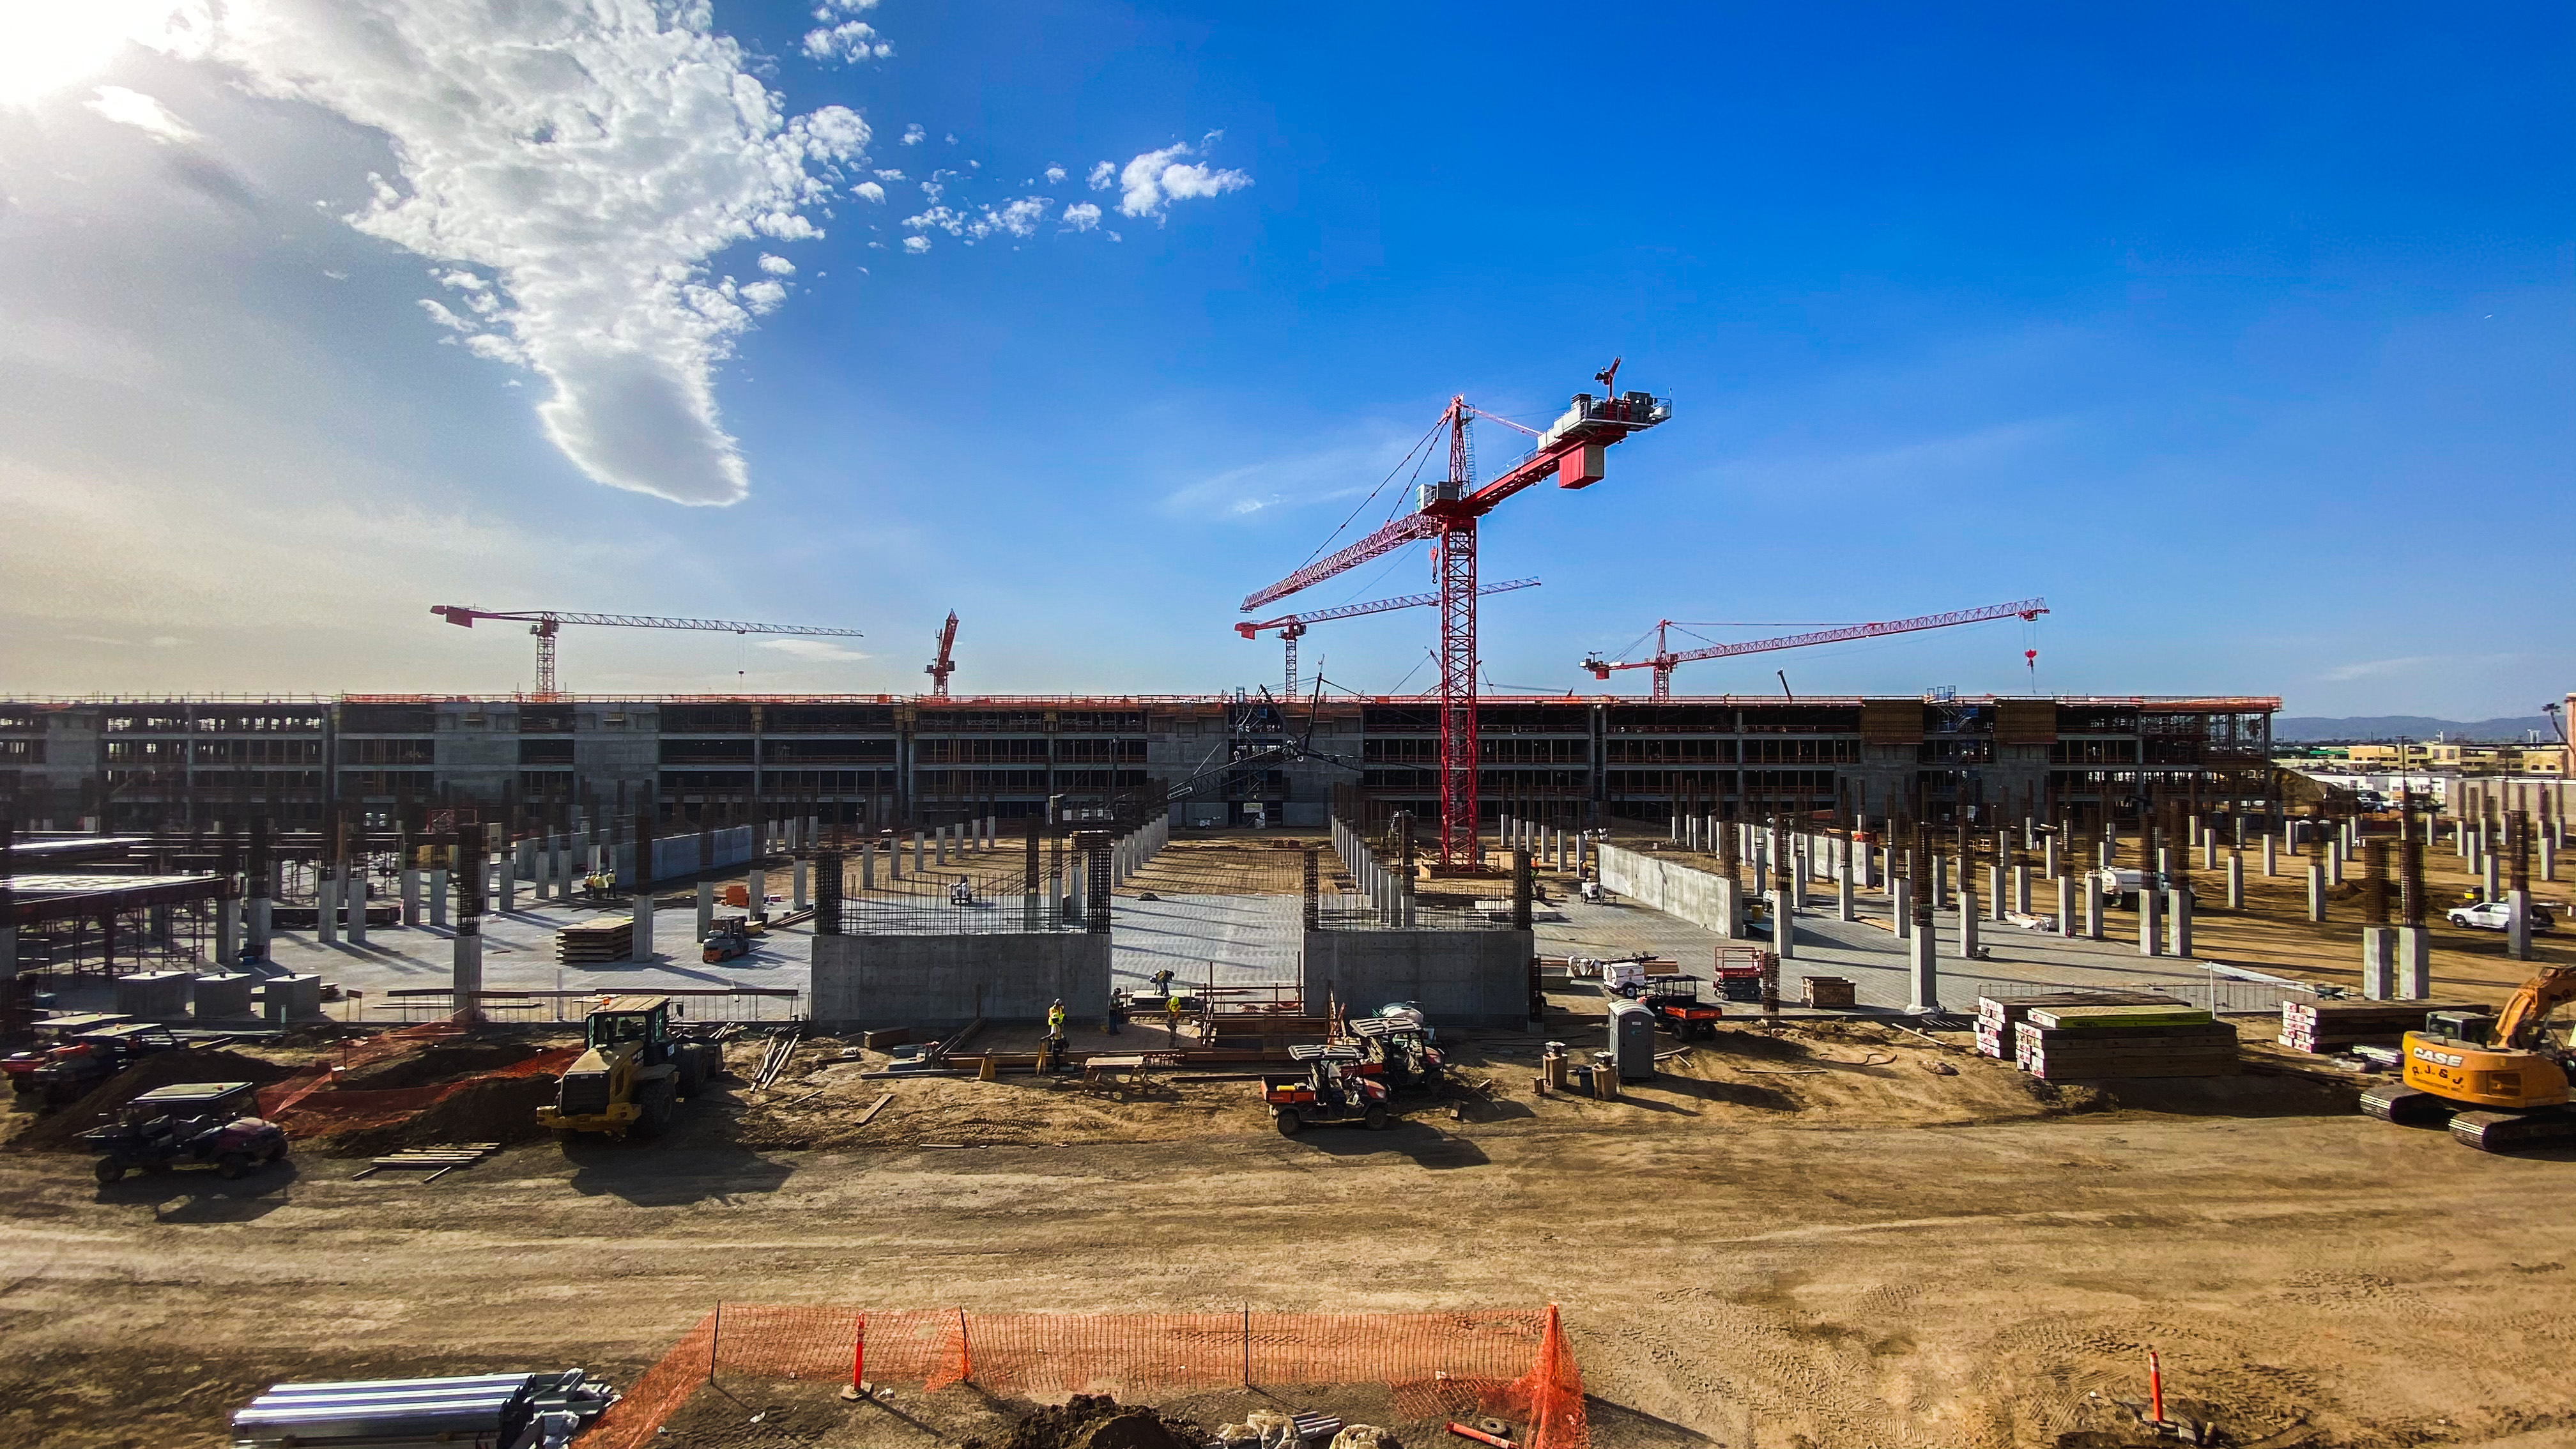
<path id="1" fill-rule="evenodd" d="M 706 260 L 819 237 L 804 211 L 863 160 L 858 113 L 786 116 L 703 3 L 232 0 L 162 49 L 386 134 L 399 175 L 350 227 L 489 273 L 466 345 L 551 384 L 538 418 L 585 474 L 750 490 L 714 366 L 752 315 Z"/>

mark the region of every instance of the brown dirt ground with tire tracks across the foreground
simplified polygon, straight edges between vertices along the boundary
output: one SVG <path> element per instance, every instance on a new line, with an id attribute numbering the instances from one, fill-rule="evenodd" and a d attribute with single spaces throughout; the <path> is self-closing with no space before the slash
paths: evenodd
<path id="1" fill-rule="evenodd" d="M 0 1441 L 222 1444 L 229 1408 L 299 1377 L 631 1382 L 719 1299 L 1553 1299 L 1605 1449 L 2130 1444 L 2146 1348 L 2231 1444 L 2576 1441 L 2576 1152 L 2367 1122 L 2349 1080 L 2264 1049 L 2099 1091 L 1958 1042 L 1731 1026 L 1600 1104 L 1540 1098 L 1535 1039 L 1471 1036 L 1461 1088 L 1404 1124 L 1293 1140 L 1244 1080 L 1118 1104 L 863 1080 L 876 1062 L 817 1044 L 657 1145 L 544 1142 L 438 1183 L 299 1152 L 98 1189 L 77 1155 L 0 1152 Z M 819 1395 L 721 1385 L 667 1439 L 999 1444 Z"/>

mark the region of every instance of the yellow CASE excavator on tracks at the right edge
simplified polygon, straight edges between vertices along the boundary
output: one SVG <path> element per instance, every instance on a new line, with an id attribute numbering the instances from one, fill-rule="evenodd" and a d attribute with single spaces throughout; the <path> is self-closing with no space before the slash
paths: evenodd
<path id="1" fill-rule="evenodd" d="M 2576 1142 L 2568 1067 L 2576 1052 L 2548 1039 L 2550 1011 L 2576 1000 L 2576 967 L 2543 967 L 2496 1016 L 2434 1011 L 2406 1034 L 2401 1080 L 2362 1093 L 2362 1111 L 2406 1127 L 2442 1127 L 2481 1152 Z"/>

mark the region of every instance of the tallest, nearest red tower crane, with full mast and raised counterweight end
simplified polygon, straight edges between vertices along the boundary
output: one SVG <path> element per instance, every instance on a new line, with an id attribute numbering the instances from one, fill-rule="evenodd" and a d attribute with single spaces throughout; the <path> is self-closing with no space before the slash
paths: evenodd
<path id="1" fill-rule="evenodd" d="M 1595 379 L 1605 392 L 1615 387 L 1618 361 L 1595 374 Z M 1492 513 L 1504 498 L 1546 477 L 1556 477 L 1556 487 L 1589 487 L 1600 482 L 1602 451 L 1628 438 L 1628 433 L 1672 418 L 1672 402 L 1651 392 L 1607 397 L 1577 392 L 1574 405 L 1548 431 L 1538 433 L 1538 446 L 1481 487 L 1473 477 L 1476 467 L 1466 433 L 1471 415 L 1520 428 L 1510 418 L 1468 407 L 1466 397 L 1450 397 L 1448 410 L 1440 415 L 1440 423 L 1450 433 L 1450 474 L 1445 482 L 1425 482 L 1412 513 L 1244 598 L 1244 614 L 1252 614 L 1262 603 L 1314 588 L 1327 578 L 1417 539 L 1432 541 L 1432 575 L 1440 585 L 1440 864 L 1450 869 L 1479 864 L 1476 521 Z M 1528 433 L 1530 428 L 1520 431 Z"/>

